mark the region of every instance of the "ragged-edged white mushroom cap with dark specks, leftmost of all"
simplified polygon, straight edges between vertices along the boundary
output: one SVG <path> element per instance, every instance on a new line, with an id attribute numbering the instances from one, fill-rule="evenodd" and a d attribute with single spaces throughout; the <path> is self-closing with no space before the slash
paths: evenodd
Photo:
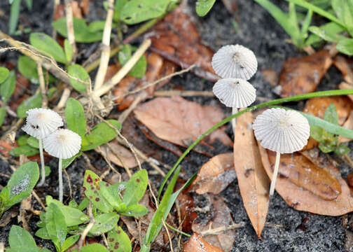
<path id="1" fill-rule="evenodd" d="M 36 139 L 43 139 L 64 125 L 59 114 L 51 109 L 29 109 L 26 113 L 26 125 L 22 130 Z"/>

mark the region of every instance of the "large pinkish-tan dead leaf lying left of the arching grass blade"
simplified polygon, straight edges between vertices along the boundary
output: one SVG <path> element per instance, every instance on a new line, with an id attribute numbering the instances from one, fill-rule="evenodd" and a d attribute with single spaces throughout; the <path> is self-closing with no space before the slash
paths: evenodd
<path id="1" fill-rule="evenodd" d="M 178 144 L 179 146 L 190 146 L 201 134 L 209 130 L 214 124 L 219 123 L 223 113 L 210 106 L 202 107 L 196 102 L 188 102 L 181 97 L 159 97 L 146 102 L 134 109 L 134 115 L 157 137 Z M 219 130 L 216 130 L 216 132 Z M 223 144 L 231 141 L 224 132 L 218 132 L 222 137 L 217 137 Z M 209 142 L 212 143 L 212 134 Z M 224 139 L 228 141 L 224 142 Z M 207 140 L 206 140 L 207 141 Z M 206 142 L 201 142 L 208 150 Z M 200 148 L 200 145 L 198 146 Z M 195 149 L 200 153 L 205 150 Z"/>

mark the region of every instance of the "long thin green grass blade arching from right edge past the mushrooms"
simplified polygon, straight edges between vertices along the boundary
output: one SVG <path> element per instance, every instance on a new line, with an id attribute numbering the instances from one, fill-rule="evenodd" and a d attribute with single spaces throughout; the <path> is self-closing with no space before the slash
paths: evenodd
<path id="1" fill-rule="evenodd" d="M 311 92 L 309 94 L 300 94 L 300 95 L 296 95 L 296 96 L 293 96 L 293 97 L 275 99 L 275 100 L 272 100 L 270 102 L 264 102 L 262 104 L 251 106 L 251 107 L 249 107 L 247 109 L 244 109 L 243 111 L 240 111 L 238 113 L 233 114 L 232 116 L 229 116 L 226 119 L 221 120 L 221 122 L 217 123 L 216 125 L 211 127 L 209 130 L 207 130 L 198 139 L 196 139 L 196 141 L 194 141 L 193 144 L 191 144 L 191 146 L 189 146 L 186 149 L 186 151 L 184 151 L 183 155 L 181 155 L 179 160 L 177 160 L 177 162 L 174 164 L 174 167 L 172 169 L 170 169 L 169 172 L 167 173 L 167 175 L 165 176 L 165 179 L 162 182 L 162 185 L 160 186 L 160 189 L 158 191 L 158 199 L 160 198 L 160 194 L 162 193 L 163 187 L 165 186 L 165 183 L 167 183 L 167 180 L 169 179 L 169 176 L 174 172 L 175 169 L 177 169 L 178 165 L 181 163 L 181 161 L 184 160 L 186 155 L 188 155 L 188 153 L 198 143 L 200 143 L 200 141 L 202 139 L 204 139 L 207 135 L 209 135 L 210 133 L 214 132 L 214 130 L 218 129 L 222 125 L 225 125 L 226 123 L 229 123 L 230 120 L 232 120 L 233 118 L 237 118 L 237 116 L 240 116 L 243 113 L 247 113 L 249 111 L 254 111 L 256 109 L 261 109 L 261 108 L 264 108 L 264 107 L 267 107 L 267 106 L 273 106 L 273 105 L 277 105 L 277 104 L 282 104 L 284 102 L 296 102 L 296 101 L 300 101 L 300 100 L 303 100 L 303 99 L 310 99 L 310 98 L 314 98 L 314 97 L 329 97 L 329 96 L 347 95 L 347 94 L 353 94 L 353 90 L 328 90 L 328 91 L 321 91 L 321 92 Z"/>

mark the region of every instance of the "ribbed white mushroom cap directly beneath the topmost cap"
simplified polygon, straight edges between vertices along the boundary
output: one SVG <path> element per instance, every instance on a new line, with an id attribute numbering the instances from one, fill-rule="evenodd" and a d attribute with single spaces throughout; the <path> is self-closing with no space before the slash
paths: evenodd
<path id="1" fill-rule="evenodd" d="M 247 80 L 240 78 L 217 81 L 213 92 L 221 103 L 231 108 L 246 108 L 256 99 L 256 89 Z"/>

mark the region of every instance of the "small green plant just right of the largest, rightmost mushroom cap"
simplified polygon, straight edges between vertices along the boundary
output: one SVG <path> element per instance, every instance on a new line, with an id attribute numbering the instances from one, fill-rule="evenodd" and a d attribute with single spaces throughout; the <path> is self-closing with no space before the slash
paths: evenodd
<path id="1" fill-rule="evenodd" d="M 338 125 L 338 113 L 334 104 L 330 104 L 325 113 L 324 120 L 328 123 Z M 338 144 L 338 135 L 328 132 L 322 127 L 312 125 L 310 127 L 310 136 L 319 141 L 319 149 L 323 153 L 335 152 L 338 155 L 345 155 L 349 153 L 349 148 L 345 144 Z"/>

